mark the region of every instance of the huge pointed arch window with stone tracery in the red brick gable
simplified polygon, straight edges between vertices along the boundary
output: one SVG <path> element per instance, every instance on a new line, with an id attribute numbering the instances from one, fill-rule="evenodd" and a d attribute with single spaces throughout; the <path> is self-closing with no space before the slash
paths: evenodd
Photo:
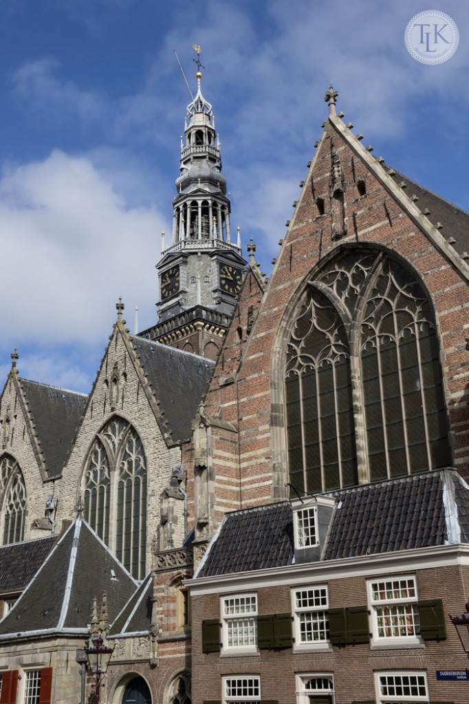
<path id="1" fill-rule="evenodd" d="M 415 276 L 382 252 L 346 253 L 310 282 L 285 394 L 300 491 L 451 465 L 434 313 Z"/>

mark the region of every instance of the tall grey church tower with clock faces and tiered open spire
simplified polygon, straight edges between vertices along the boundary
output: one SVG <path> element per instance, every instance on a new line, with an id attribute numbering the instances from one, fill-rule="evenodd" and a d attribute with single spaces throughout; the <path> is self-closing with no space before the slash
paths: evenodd
<path id="1" fill-rule="evenodd" d="M 156 341 L 216 359 L 242 285 L 246 261 L 239 233 L 233 239 L 230 199 L 222 175 L 220 140 L 212 106 L 201 92 L 187 106 L 180 176 L 173 200 L 173 233 L 156 265 L 158 323 L 141 333 Z M 163 237 L 164 243 L 164 237 Z"/>

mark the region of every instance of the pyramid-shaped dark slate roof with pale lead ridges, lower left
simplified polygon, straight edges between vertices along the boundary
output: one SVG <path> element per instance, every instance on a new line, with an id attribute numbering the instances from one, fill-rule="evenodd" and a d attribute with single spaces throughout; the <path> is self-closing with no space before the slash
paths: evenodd
<path id="1" fill-rule="evenodd" d="M 79 517 L 0 621 L 0 641 L 44 633 L 87 633 L 95 596 L 99 602 L 106 591 L 112 622 L 135 589 L 137 582 Z"/>

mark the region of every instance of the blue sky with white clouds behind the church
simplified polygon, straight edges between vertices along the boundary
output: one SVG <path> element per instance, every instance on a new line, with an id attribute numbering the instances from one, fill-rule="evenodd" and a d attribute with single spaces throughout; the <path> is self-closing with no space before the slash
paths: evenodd
<path id="1" fill-rule="evenodd" d="M 413 15 L 460 32 L 441 65 L 404 46 Z M 375 156 L 469 210 L 469 4 L 461 0 L 1 0 L 0 375 L 89 391 L 122 296 L 156 322 L 180 134 L 205 66 L 232 225 L 265 272 L 327 115 Z M 244 253 L 246 251 L 244 250 Z"/>

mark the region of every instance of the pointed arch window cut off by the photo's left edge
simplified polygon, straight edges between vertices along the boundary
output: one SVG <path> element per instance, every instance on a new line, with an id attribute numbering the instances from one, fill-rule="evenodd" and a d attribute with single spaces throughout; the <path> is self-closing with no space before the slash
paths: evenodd
<path id="1" fill-rule="evenodd" d="M 26 485 L 20 466 L 10 455 L 0 460 L 3 544 L 19 543 L 25 537 Z"/>

